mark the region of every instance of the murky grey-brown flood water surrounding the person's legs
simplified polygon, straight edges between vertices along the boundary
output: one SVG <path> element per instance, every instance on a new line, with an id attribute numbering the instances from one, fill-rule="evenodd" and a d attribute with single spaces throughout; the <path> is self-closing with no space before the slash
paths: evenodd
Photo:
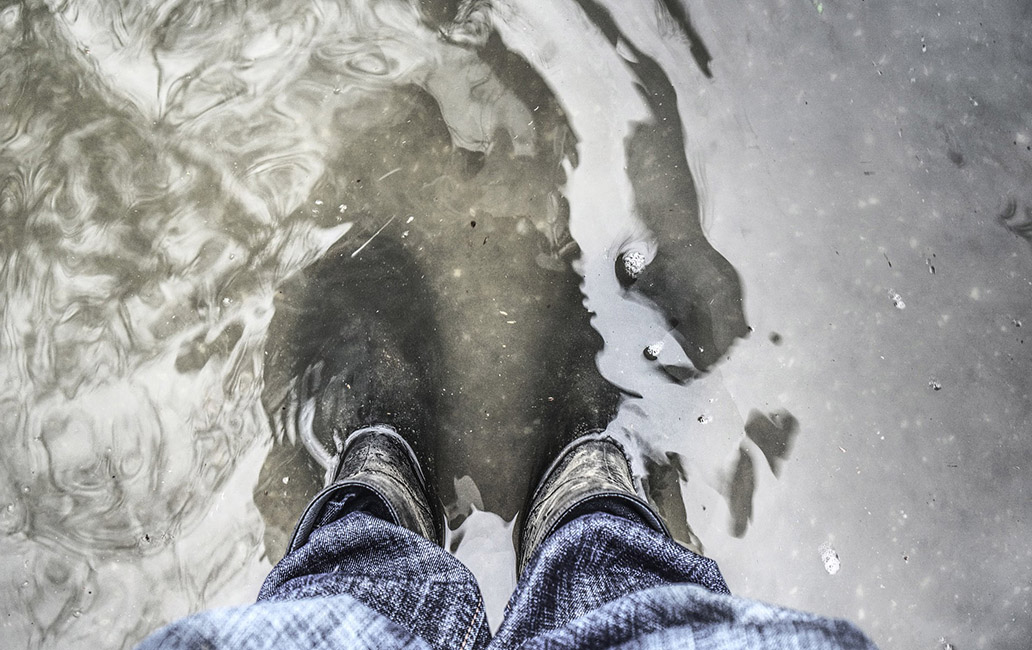
<path id="1" fill-rule="evenodd" d="M 1032 8 L 911 4 L 0 0 L 4 645 L 253 600 L 378 419 L 493 624 L 606 428 L 733 591 L 1026 648 Z"/>

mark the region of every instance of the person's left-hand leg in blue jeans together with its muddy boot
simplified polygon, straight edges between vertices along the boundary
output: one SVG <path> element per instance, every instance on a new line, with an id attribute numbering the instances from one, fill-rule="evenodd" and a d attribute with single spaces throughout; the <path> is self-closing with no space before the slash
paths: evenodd
<path id="1" fill-rule="evenodd" d="M 143 647 L 483 648 L 480 590 L 441 547 L 436 510 L 399 435 L 356 432 L 258 603 L 189 617 Z"/>

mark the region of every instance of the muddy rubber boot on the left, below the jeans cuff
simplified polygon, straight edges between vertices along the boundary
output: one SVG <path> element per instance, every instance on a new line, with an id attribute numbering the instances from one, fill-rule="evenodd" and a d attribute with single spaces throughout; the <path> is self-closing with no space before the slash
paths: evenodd
<path id="1" fill-rule="evenodd" d="M 412 447 L 392 427 L 359 429 L 345 442 L 330 484 L 297 522 L 287 553 L 319 526 L 363 512 L 444 544 L 444 519 L 437 493 L 423 476 Z"/>

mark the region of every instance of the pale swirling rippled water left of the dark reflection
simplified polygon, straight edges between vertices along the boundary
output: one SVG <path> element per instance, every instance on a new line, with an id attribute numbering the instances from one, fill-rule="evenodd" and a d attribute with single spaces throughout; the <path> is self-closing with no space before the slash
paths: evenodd
<path id="1" fill-rule="evenodd" d="M 30 645 L 117 643 L 260 548 L 253 506 L 206 559 L 181 534 L 270 440 L 258 397 L 277 287 L 352 225 L 305 201 L 349 129 L 401 119 L 407 86 L 455 93 L 442 62 L 471 55 L 393 2 L 0 17 L 0 526 L 22 619 L 4 624 Z M 477 150 L 495 128 L 525 132 L 513 105 L 454 137 Z M 140 572 L 196 586 L 184 607 Z"/>

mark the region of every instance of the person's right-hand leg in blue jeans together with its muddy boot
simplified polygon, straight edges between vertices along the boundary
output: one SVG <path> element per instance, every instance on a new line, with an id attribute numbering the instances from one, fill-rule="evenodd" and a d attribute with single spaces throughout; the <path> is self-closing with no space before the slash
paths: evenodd
<path id="1" fill-rule="evenodd" d="M 844 621 L 731 595 L 634 493 L 619 448 L 572 446 L 522 522 L 522 571 L 496 648 L 868 649 Z"/>

